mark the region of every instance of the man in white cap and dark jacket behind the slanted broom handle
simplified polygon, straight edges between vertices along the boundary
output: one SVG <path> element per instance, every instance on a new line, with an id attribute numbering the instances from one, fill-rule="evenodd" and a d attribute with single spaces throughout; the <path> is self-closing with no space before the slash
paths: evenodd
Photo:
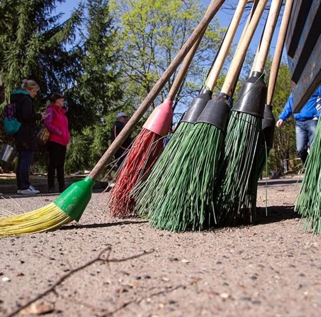
<path id="1" fill-rule="evenodd" d="M 120 131 L 122 129 L 124 129 L 125 125 L 127 123 L 127 116 L 126 113 L 124 112 L 120 112 L 117 114 L 116 116 L 116 122 L 113 125 L 113 127 L 111 128 L 111 135 L 110 138 L 112 141 L 114 141 L 116 139 L 116 137 L 118 136 L 118 134 L 120 133 Z M 115 159 L 117 160 L 117 167 L 119 168 L 120 165 L 123 163 L 123 161 L 125 160 L 125 157 L 127 155 L 127 152 L 130 148 L 130 145 L 132 143 L 131 138 L 128 136 L 125 141 L 123 142 L 123 144 L 119 147 L 119 149 L 117 150 L 117 152 L 114 154 Z"/>

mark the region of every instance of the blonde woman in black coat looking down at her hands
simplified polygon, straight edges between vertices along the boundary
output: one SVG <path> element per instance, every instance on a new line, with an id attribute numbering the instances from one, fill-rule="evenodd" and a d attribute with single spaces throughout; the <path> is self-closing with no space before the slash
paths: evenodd
<path id="1" fill-rule="evenodd" d="M 29 170 L 32 161 L 32 154 L 39 150 L 37 138 L 37 120 L 44 120 L 48 114 L 45 112 L 36 113 L 32 104 L 32 98 L 37 95 L 38 84 L 34 80 L 22 80 L 21 90 L 13 90 L 10 96 L 10 103 L 16 105 L 16 117 L 21 126 L 13 136 L 18 151 L 17 167 L 17 193 L 38 194 L 29 181 Z"/>

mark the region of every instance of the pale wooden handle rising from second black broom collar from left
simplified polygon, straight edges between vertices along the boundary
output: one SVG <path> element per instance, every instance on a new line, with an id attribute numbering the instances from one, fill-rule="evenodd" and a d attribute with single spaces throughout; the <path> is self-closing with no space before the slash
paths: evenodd
<path id="1" fill-rule="evenodd" d="M 234 57 L 232 59 L 232 62 L 230 64 L 230 68 L 227 72 L 227 75 L 225 77 L 221 92 L 229 95 L 230 89 L 232 88 L 232 85 L 234 84 L 234 76 L 239 71 L 239 65 L 243 63 L 244 56 L 247 52 L 248 46 L 250 45 L 251 39 L 254 35 L 254 32 L 256 30 L 257 24 L 260 21 L 261 15 L 264 11 L 265 4 L 267 0 L 261 0 L 257 4 L 257 7 L 253 13 L 253 16 L 251 18 L 250 23 L 248 24 L 244 37 L 242 39 L 242 42 L 237 47 L 236 52 L 234 54 Z"/>

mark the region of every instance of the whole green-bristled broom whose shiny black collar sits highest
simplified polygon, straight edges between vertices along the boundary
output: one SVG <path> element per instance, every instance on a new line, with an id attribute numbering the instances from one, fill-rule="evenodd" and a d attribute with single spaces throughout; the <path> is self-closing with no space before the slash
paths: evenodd
<path id="1" fill-rule="evenodd" d="M 215 208 L 219 212 L 218 223 L 221 226 L 233 225 L 238 218 L 244 219 L 248 215 L 251 220 L 255 217 L 253 202 L 256 194 L 251 192 L 250 186 L 257 177 L 250 172 L 252 169 L 257 171 L 257 147 L 266 99 L 262 72 L 281 3 L 281 0 L 272 0 L 255 71 L 243 84 L 239 100 L 231 112 L 220 184 L 216 189 Z"/>

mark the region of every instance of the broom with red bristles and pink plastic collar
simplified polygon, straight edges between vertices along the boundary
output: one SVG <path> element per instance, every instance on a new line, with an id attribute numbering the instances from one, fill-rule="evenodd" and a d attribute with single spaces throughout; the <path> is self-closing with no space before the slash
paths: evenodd
<path id="1" fill-rule="evenodd" d="M 130 192 L 149 173 L 163 150 L 163 138 L 168 134 L 173 118 L 174 97 L 185 78 L 204 32 L 205 30 L 184 59 L 167 98 L 147 119 L 117 173 L 115 184 L 108 197 L 109 212 L 114 217 L 134 216 L 135 201 Z"/>

